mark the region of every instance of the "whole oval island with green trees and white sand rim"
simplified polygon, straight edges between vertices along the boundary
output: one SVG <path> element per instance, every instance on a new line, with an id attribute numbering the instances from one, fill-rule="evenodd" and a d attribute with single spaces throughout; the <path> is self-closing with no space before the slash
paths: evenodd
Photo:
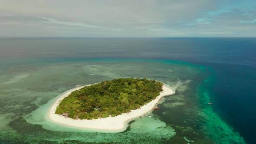
<path id="1" fill-rule="evenodd" d="M 64 92 L 50 108 L 49 119 L 92 131 L 121 132 L 172 94 L 174 90 L 163 83 L 146 78 L 104 81 Z"/>

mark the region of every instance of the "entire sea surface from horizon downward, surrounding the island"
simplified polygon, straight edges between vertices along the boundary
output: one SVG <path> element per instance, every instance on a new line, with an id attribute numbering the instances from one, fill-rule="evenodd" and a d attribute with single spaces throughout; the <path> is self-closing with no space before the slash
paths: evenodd
<path id="1" fill-rule="evenodd" d="M 117 134 L 47 119 L 61 93 L 125 77 L 176 93 Z M 255 86 L 256 38 L 0 39 L 0 144 L 254 144 Z"/>

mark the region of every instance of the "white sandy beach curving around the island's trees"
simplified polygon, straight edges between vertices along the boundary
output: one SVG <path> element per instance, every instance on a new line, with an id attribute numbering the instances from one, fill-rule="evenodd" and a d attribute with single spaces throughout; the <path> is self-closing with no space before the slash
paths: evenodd
<path id="1" fill-rule="evenodd" d="M 89 86 L 89 85 L 85 85 Z M 84 87 L 84 86 L 82 86 Z M 59 105 L 60 101 L 67 97 L 71 92 L 78 90 L 82 87 L 71 89 L 67 92 L 64 92 L 60 98 L 58 98 L 52 105 L 52 107 L 49 110 L 49 119 L 53 122 L 68 125 L 71 127 L 76 128 L 82 128 L 82 129 L 88 129 L 92 131 L 109 131 L 109 132 L 121 132 L 125 131 L 125 129 L 128 127 L 128 122 L 138 118 L 139 116 L 142 116 L 149 111 L 151 111 L 157 104 L 158 101 L 166 96 L 166 95 L 173 95 L 175 93 L 174 90 L 171 88 L 168 88 L 167 86 L 163 86 L 163 91 L 160 93 L 160 95 L 149 102 L 148 104 L 142 106 L 139 109 L 131 110 L 129 113 L 124 113 L 122 115 L 118 115 L 115 117 L 108 117 L 108 118 L 98 118 L 95 120 L 74 120 L 72 118 L 67 118 L 62 115 L 56 115 L 55 111 L 57 106 Z"/>

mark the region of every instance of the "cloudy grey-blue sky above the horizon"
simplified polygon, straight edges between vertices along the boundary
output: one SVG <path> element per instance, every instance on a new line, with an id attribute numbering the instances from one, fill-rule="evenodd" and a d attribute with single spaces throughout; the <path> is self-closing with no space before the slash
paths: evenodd
<path id="1" fill-rule="evenodd" d="M 256 37 L 256 0 L 0 0 L 0 37 Z"/>

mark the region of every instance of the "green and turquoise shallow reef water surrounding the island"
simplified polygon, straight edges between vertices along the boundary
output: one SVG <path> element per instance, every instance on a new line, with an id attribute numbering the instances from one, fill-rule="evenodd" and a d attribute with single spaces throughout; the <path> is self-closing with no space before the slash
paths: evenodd
<path id="1" fill-rule="evenodd" d="M 207 105 L 214 83 L 208 67 L 157 59 L 21 59 L 10 63 L 13 66 L 6 63 L 0 75 L 2 143 L 245 143 Z M 118 134 L 46 120 L 51 101 L 62 92 L 121 77 L 156 79 L 170 85 L 176 94 L 165 97 L 152 118 L 131 121 L 131 127 Z"/>

